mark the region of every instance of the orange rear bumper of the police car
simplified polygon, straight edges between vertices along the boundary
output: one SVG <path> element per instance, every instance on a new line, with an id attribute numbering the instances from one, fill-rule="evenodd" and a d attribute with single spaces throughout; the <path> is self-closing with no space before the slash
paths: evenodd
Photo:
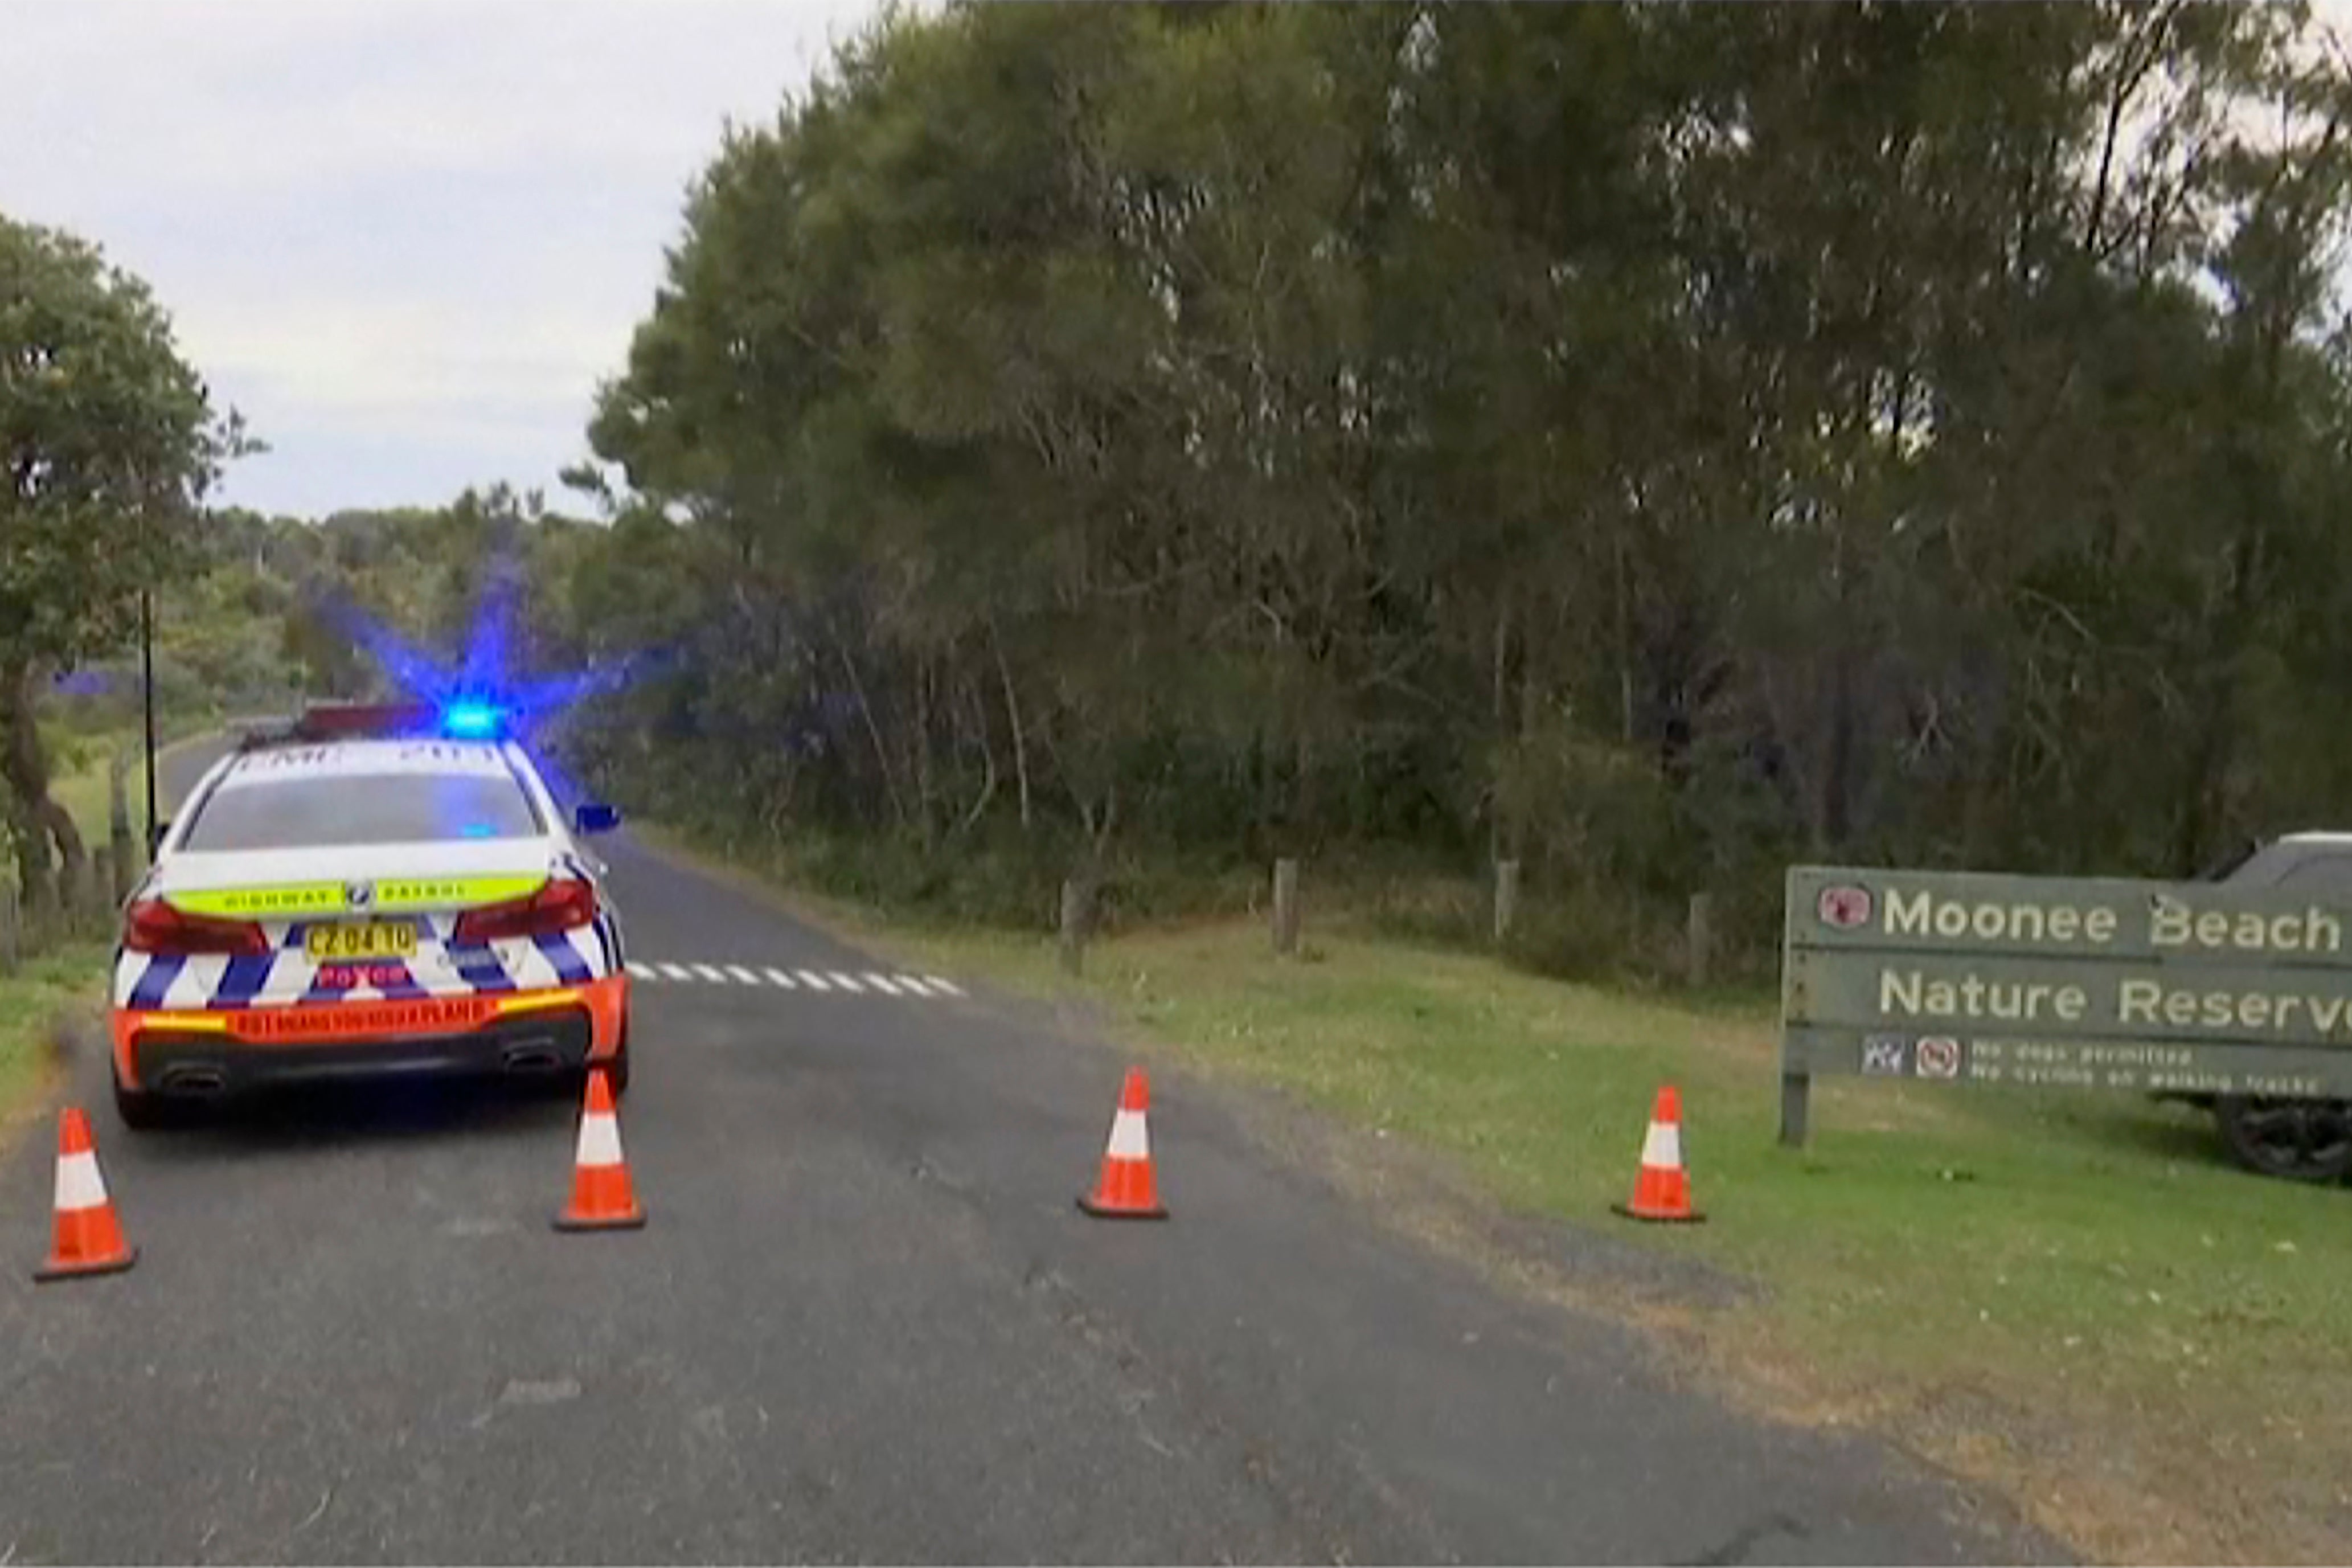
<path id="1" fill-rule="evenodd" d="M 214 1095 L 353 1077 L 539 1074 L 612 1060 L 628 1032 L 628 978 L 503 997 L 348 1009 L 113 1016 L 115 1079 Z"/>

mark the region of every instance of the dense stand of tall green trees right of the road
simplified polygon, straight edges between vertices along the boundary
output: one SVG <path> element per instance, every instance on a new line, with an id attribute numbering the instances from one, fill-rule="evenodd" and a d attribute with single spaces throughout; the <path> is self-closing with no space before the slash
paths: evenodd
<path id="1" fill-rule="evenodd" d="M 574 654 L 670 658 L 583 736 L 934 865 L 1486 846 L 1759 931 L 1792 856 L 2328 818 L 2336 61 L 2298 5 L 894 16 L 727 141 L 604 390 L 569 602 L 649 588 Z"/>

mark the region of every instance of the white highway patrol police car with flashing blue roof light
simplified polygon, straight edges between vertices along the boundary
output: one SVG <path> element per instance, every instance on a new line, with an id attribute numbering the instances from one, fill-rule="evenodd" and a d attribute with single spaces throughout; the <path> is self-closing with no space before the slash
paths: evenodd
<path id="1" fill-rule="evenodd" d="M 496 710 L 339 705 L 247 736 L 122 917 L 115 1107 L 132 1128 L 263 1084 L 369 1074 L 628 1081 L 602 863 Z"/>

